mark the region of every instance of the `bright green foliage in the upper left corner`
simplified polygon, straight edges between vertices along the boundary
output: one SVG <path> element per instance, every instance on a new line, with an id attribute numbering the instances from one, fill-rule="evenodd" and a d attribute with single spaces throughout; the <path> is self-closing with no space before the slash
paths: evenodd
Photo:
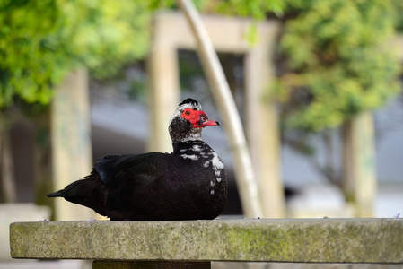
<path id="1" fill-rule="evenodd" d="M 102 77 L 145 56 L 150 17 L 142 0 L 3 0 L 0 108 L 14 98 L 47 104 L 78 66 Z"/>

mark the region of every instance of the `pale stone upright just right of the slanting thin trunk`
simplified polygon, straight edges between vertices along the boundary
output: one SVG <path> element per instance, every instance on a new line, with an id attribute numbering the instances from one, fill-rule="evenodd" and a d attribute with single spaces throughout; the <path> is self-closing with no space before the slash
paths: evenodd
<path id="1" fill-rule="evenodd" d="M 245 56 L 245 130 L 267 218 L 285 217 L 278 115 L 276 104 L 267 98 L 275 80 L 275 66 L 270 59 L 276 48 L 277 32 L 275 22 L 261 25 L 260 42 Z"/>

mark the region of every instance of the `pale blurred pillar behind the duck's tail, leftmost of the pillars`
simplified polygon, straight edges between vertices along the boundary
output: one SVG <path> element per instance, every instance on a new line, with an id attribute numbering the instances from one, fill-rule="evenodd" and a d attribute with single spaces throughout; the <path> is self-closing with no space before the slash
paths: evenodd
<path id="1" fill-rule="evenodd" d="M 90 113 L 86 70 L 66 76 L 56 89 L 51 106 L 51 143 L 55 190 L 91 172 Z M 83 220 L 95 213 L 82 205 L 55 199 L 59 221 Z"/>

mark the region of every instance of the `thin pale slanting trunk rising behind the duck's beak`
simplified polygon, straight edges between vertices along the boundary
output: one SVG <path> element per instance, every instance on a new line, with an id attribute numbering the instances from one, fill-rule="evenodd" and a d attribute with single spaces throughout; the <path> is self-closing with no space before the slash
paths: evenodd
<path id="1" fill-rule="evenodd" d="M 215 103 L 218 104 L 220 114 L 226 119 L 223 126 L 232 151 L 233 168 L 243 213 L 247 217 L 263 217 L 263 206 L 260 203 L 260 193 L 250 159 L 249 146 L 246 143 L 241 117 L 235 106 L 230 86 L 223 74 L 223 67 L 220 65 L 213 43 L 196 7 L 190 0 L 177 0 L 176 2 L 182 12 L 185 13 L 193 35 L 197 39 L 197 54 L 200 57 L 207 82 L 210 85 Z"/>

